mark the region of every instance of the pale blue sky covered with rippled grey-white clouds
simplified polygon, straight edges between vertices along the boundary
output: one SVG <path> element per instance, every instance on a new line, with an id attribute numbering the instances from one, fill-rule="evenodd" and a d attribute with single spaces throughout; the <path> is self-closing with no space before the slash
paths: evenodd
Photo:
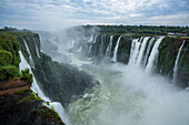
<path id="1" fill-rule="evenodd" d="M 0 27 L 189 25 L 189 0 L 0 0 Z"/>

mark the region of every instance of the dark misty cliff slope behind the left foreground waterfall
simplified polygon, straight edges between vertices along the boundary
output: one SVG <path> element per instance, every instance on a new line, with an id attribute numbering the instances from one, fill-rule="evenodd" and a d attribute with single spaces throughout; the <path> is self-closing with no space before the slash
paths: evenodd
<path id="1" fill-rule="evenodd" d="M 83 71 L 69 64 L 59 64 L 41 52 L 38 34 L 26 34 L 19 37 L 18 40 L 23 55 L 32 66 L 37 82 L 51 101 L 66 105 L 73 96 L 82 95 L 84 91 L 98 84 Z"/>

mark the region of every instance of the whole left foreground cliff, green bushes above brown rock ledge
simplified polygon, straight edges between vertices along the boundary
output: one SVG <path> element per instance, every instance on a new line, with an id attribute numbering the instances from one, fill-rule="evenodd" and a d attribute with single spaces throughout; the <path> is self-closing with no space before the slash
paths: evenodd
<path id="1" fill-rule="evenodd" d="M 64 125 L 30 90 L 29 71 L 20 73 L 19 46 L 16 37 L 0 32 L 0 125 Z"/>

